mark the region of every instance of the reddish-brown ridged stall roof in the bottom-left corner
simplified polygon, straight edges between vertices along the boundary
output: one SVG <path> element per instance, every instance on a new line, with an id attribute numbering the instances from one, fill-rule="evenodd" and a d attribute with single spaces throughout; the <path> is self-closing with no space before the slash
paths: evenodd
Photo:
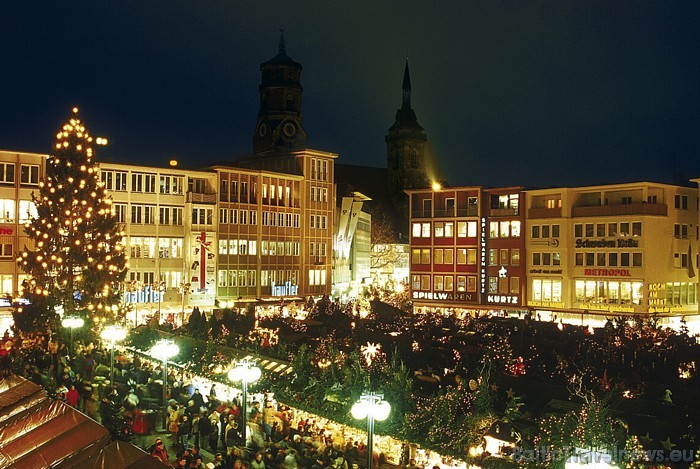
<path id="1" fill-rule="evenodd" d="M 0 468 L 68 468 L 96 456 L 109 432 L 40 386 L 0 379 Z"/>

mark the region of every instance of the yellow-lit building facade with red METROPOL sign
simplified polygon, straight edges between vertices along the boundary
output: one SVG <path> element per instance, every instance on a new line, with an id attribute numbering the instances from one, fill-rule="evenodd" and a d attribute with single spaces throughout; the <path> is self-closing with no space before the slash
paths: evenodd
<path id="1" fill-rule="evenodd" d="M 696 191 L 640 182 L 526 194 L 533 311 L 697 314 Z"/>

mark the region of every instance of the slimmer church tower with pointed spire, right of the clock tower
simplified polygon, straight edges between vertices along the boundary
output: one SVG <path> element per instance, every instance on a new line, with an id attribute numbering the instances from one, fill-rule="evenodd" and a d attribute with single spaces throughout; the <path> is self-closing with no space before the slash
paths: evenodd
<path id="1" fill-rule="evenodd" d="M 428 137 L 418 124 L 411 108 L 411 77 L 408 60 L 403 74 L 403 102 L 396 111 L 396 121 L 386 138 L 389 191 L 396 209 L 408 218 L 408 196 L 405 189 L 429 187 L 426 143 Z"/>

